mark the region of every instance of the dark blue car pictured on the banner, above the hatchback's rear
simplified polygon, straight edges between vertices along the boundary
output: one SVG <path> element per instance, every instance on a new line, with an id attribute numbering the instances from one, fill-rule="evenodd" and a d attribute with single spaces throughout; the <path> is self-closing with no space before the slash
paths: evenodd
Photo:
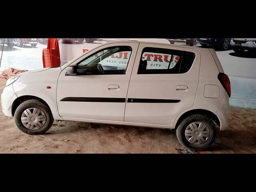
<path id="1" fill-rule="evenodd" d="M 201 44 L 202 47 L 206 48 L 207 46 L 216 46 L 222 50 L 230 49 L 230 38 L 215 39 L 215 38 L 199 38 L 197 41 Z"/>

